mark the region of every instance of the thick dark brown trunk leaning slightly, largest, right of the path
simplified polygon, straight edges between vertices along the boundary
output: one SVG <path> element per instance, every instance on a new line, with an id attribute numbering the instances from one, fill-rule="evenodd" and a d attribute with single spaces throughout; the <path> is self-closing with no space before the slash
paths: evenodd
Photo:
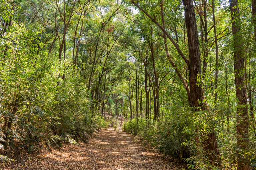
<path id="1" fill-rule="evenodd" d="M 185 22 L 188 37 L 188 70 L 191 99 L 193 106 L 196 107 L 196 110 L 198 110 L 197 107 L 200 107 L 203 110 L 208 110 L 208 105 L 204 96 L 202 84 L 198 82 L 197 78 L 199 75 L 201 75 L 201 54 L 199 48 L 199 39 L 193 0 L 183 0 L 183 5 L 185 10 Z M 199 103 L 198 101 L 201 101 L 201 103 Z M 205 140 L 204 144 L 204 150 L 206 151 L 210 159 L 210 163 L 217 167 L 221 167 L 219 148 L 217 144 L 214 126 L 212 128 L 212 132 L 208 134 L 208 137 Z"/>

